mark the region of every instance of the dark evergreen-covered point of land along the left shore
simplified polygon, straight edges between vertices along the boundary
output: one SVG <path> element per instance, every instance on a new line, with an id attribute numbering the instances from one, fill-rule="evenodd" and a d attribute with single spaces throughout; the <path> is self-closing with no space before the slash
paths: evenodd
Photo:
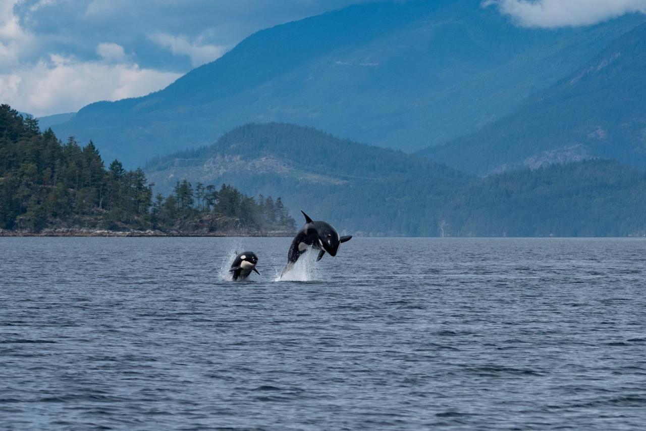
<path id="1" fill-rule="evenodd" d="M 119 160 L 105 168 L 92 141 L 63 143 L 35 118 L 0 105 L 0 228 L 156 229 L 227 233 L 292 231 L 282 199 L 239 192 L 233 186 L 177 182 L 173 193 L 152 196 L 140 168 Z"/>

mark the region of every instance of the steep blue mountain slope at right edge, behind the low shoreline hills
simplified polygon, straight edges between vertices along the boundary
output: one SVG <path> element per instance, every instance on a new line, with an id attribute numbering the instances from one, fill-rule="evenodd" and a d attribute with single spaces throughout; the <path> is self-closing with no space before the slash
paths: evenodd
<path id="1" fill-rule="evenodd" d="M 646 168 L 646 25 L 511 115 L 421 155 L 485 175 L 602 157 Z"/>

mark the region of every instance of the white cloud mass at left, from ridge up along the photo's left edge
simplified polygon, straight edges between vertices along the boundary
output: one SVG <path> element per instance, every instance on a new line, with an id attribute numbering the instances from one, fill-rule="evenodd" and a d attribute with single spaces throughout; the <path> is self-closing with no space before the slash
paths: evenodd
<path id="1" fill-rule="evenodd" d="M 99 43 L 101 61 L 48 54 L 25 61 L 37 49 L 37 38 L 20 26 L 14 14 L 19 0 L 0 0 L 0 103 L 32 113 L 49 115 L 77 111 L 97 100 L 118 100 L 157 91 L 180 73 L 141 68 L 129 60 L 117 43 Z M 54 4 L 41 0 L 32 8 Z"/>

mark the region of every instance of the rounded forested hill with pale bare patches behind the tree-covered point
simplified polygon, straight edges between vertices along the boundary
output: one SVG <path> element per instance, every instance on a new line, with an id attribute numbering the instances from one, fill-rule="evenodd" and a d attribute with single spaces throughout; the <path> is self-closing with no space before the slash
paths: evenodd
<path id="1" fill-rule="evenodd" d="M 468 181 L 442 164 L 342 140 L 293 124 L 247 124 L 212 146 L 153 160 L 157 191 L 177 181 L 229 183 L 252 195 L 280 195 L 293 215 L 362 234 L 437 234 L 437 209 Z M 280 193 L 276 193 L 280 192 Z"/>

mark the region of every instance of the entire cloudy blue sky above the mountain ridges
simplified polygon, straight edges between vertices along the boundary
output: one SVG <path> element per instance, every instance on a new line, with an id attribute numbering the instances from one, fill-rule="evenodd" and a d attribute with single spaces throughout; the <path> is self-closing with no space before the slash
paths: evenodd
<path id="1" fill-rule="evenodd" d="M 42 116 L 142 96 L 257 30 L 361 2 L 0 0 L 0 103 Z M 481 7 L 523 27 L 557 28 L 646 12 L 646 0 L 485 0 Z"/>

